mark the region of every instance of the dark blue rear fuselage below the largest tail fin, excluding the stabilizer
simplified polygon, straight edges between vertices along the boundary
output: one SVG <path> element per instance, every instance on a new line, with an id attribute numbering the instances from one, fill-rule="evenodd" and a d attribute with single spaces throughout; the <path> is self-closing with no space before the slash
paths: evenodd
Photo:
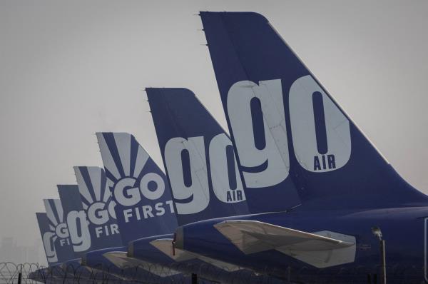
<path id="1" fill-rule="evenodd" d="M 313 248 L 312 251 L 308 249 L 307 255 L 293 254 L 292 249 L 287 248 L 245 254 L 214 227 L 224 220 L 257 220 L 327 237 L 346 235 L 355 237 L 355 246 L 345 252 L 347 256 L 337 251 L 314 254 Z M 176 241 L 178 247 L 181 244 L 185 250 L 219 260 L 233 259 L 235 264 L 280 278 L 308 280 L 317 276 L 318 281 L 328 281 L 340 275 L 341 278 L 357 282 L 361 278 L 362 283 L 367 283 L 367 274 L 379 274 L 380 271 L 379 240 L 372 233 L 372 227 L 377 226 L 381 228 L 386 244 L 388 283 L 402 283 L 399 275 L 404 272 L 407 279 L 405 283 L 421 283 L 425 278 L 427 220 L 428 206 L 365 211 L 300 211 L 296 208 L 287 213 L 235 216 L 185 225 L 183 230 L 178 230 Z M 310 243 L 307 245 L 309 248 Z M 355 257 L 352 257 L 352 251 Z M 314 263 L 305 263 L 305 256 L 308 259 L 321 258 L 316 265 L 324 262 L 326 266 L 317 268 Z M 340 262 L 340 258 L 349 257 L 352 261 L 339 265 L 335 265 L 331 259 L 337 258 Z M 332 265 L 329 267 L 328 263 Z"/>

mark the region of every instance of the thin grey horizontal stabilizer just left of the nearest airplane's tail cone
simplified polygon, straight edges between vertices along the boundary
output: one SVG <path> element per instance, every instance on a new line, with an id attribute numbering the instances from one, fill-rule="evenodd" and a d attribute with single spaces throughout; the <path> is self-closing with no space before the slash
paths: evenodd
<path id="1" fill-rule="evenodd" d="M 208 258 L 198 253 L 190 253 L 190 251 L 180 250 L 179 248 L 175 248 L 174 249 L 175 252 L 173 253 L 173 239 L 171 238 L 162 238 L 158 240 L 152 240 L 150 243 L 151 245 L 156 247 L 158 250 L 161 250 L 161 252 L 165 253 L 165 255 L 168 255 L 170 258 L 172 258 L 177 262 L 197 258 L 199 260 L 204 261 L 205 263 L 210 263 L 211 265 L 214 265 L 223 270 L 227 270 L 229 272 L 242 269 L 237 265 L 233 265 L 231 263 L 225 263 L 224 261 L 216 260 L 213 258 Z"/>

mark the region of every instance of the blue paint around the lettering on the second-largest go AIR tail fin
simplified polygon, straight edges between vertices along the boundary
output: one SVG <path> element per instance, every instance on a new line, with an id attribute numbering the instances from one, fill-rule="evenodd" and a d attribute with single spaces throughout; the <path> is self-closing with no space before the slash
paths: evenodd
<path id="1" fill-rule="evenodd" d="M 210 164 L 210 143 L 215 143 L 213 142 L 213 138 L 216 136 L 222 134 L 227 136 L 227 134 L 203 104 L 198 101 L 195 94 L 185 88 L 146 88 L 146 92 L 167 175 L 168 165 L 165 162 L 166 159 L 168 159 L 168 157 L 165 157 L 166 144 L 173 138 L 184 138 L 186 140 L 196 137 L 203 138 L 203 150 L 205 151 L 205 156 L 201 159 L 205 161 L 206 168 L 203 168 L 201 171 L 205 170 L 208 175 L 209 203 L 206 208 L 202 211 L 198 211 L 197 213 L 180 214 L 180 212 L 178 212 L 177 218 L 179 225 L 209 218 L 248 213 L 246 201 L 226 203 L 220 201 L 213 192 L 213 178 L 215 178 L 215 176 L 212 176 L 210 173 L 210 168 L 213 167 L 213 165 Z M 224 151 L 227 150 L 225 149 Z M 188 151 L 182 151 L 182 157 L 183 153 L 186 153 L 188 156 Z M 220 154 L 227 153 L 219 153 L 219 155 Z M 234 156 L 228 158 L 228 162 L 230 163 L 230 160 L 232 160 L 232 163 L 234 164 Z M 183 172 L 179 174 L 183 174 L 185 185 L 191 186 L 192 183 L 198 183 L 198 179 L 195 177 L 195 180 L 191 181 L 190 161 L 185 160 L 182 161 L 182 163 Z M 228 166 L 228 164 L 225 166 Z M 242 180 L 239 173 L 235 175 L 234 168 L 233 171 L 228 171 L 228 186 L 230 186 L 230 181 L 232 181 L 232 185 L 233 183 L 236 183 L 235 176 L 238 176 L 238 178 Z M 172 184 L 172 186 L 174 187 L 174 184 Z M 235 188 L 236 186 L 234 189 Z M 185 200 L 175 198 L 174 201 L 175 203 L 180 203 L 183 206 L 191 207 L 193 196 Z"/>

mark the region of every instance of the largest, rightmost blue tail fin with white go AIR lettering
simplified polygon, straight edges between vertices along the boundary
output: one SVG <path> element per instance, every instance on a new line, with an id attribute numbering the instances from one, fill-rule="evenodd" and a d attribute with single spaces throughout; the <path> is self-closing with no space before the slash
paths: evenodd
<path id="1" fill-rule="evenodd" d="M 267 19 L 246 12 L 200 16 L 249 199 L 260 197 L 265 209 L 277 210 L 294 188 L 312 208 L 427 201 L 367 141 Z M 292 186 L 282 186 L 287 181 Z"/>

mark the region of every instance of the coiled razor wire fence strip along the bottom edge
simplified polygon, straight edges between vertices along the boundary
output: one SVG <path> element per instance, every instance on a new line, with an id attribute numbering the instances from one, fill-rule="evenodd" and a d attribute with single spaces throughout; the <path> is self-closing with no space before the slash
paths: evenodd
<path id="1" fill-rule="evenodd" d="M 380 283 L 378 268 L 371 266 L 350 266 L 336 270 L 315 270 L 310 267 L 291 268 L 281 271 L 257 273 L 246 269 L 195 263 L 175 263 L 174 265 L 55 265 L 49 268 L 37 263 L 0 263 L 0 284 L 190 284 L 192 275 L 198 275 L 199 284 L 344 284 Z M 272 273 L 280 278 L 272 277 Z M 422 283 L 424 271 L 412 265 L 396 265 L 387 268 L 388 283 Z"/>

